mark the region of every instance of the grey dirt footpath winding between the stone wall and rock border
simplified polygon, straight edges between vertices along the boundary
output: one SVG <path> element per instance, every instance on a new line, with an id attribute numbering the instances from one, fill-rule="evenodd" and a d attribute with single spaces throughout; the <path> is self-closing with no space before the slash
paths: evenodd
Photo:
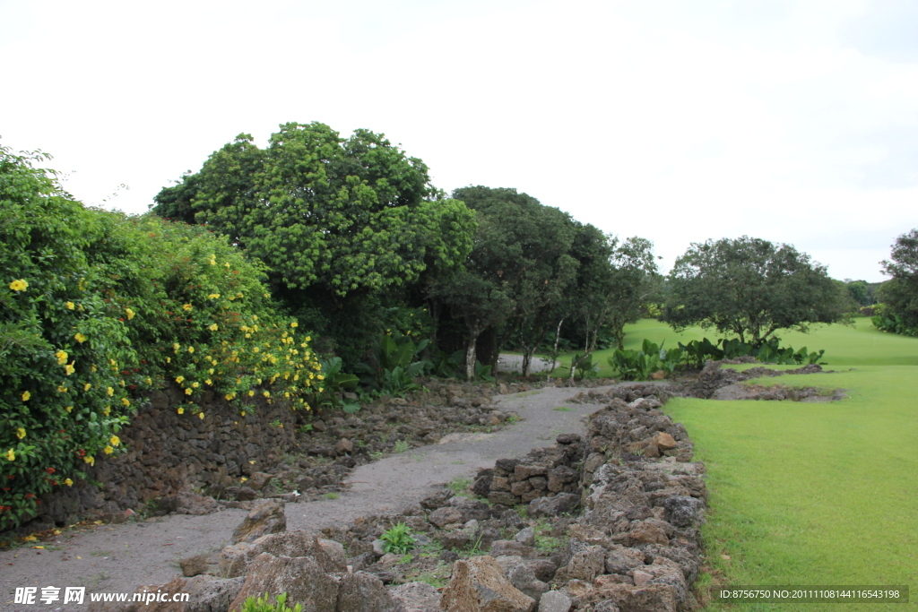
<path id="1" fill-rule="evenodd" d="M 603 391 L 600 387 L 596 391 Z M 316 530 L 369 514 L 396 512 L 420 501 L 437 484 L 472 478 L 479 468 L 502 457 L 517 457 L 533 448 L 551 446 L 562 433 L 584 433 L 583 417 L 597 409 L 566 404 L 579 388 L 547 387 L 498 396 L 500 410 L 520 414 L 520 422 L 494 433 L 452 434 L 435 444 L 391 455 L 353 471 L 351 487 L 337 499 L 287 504 L 287 529 Z M 554 408 L 563 407 L 564 410 Z M 232 530 L 245 517 L 239 509 L 192 517 L 175 515 L 94 529 L 66 530 L 54 541 L 0 552 L 0 610 L 27 610 L 14 604 L 18 586 L 85 586 L 87 593 L 131 593 L 140 584 L 162 584 L 181 573 L 178 560 L 229 544 Z M 88 595 L 87 595 L 88 601 Z M 35 607 L 66 608 L 60 602 Z"/>

